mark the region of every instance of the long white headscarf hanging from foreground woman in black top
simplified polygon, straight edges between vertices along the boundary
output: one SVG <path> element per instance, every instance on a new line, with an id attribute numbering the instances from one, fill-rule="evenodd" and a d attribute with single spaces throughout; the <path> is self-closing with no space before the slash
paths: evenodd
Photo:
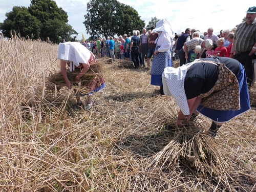
<path id="1" fill-rule="evenodd" d="M 162 74 L 164 94 L 174 97 L 184 115 L 189 115 L 187 97 L 184 89 L 184 80 L 187 74 L 187 69 L 194 63 L 195 61 L 178 68 L 167 67 L 164 69 Z"/>

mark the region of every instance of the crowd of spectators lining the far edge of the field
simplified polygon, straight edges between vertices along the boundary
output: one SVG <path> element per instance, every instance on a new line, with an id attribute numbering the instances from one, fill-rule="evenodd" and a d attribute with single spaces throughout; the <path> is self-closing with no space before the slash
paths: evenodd
<path id="1" fill-rule="evenodd" d="M 242 32 L 237 33 L 237 27 L 244 28 L 244 23 L 253 24 L 255 23 L 254 11 L 255 7 L 252 7 L 252 12 L 247 12 L 246 20 L 242 24 L 234 27 L 232 30 L 223 29 L 219 32 L 218 35 L 214 34 L 214 29 L 209 27 L 207 31 L 200 35 L 198 29 L 187 28 L 181 35 L 175 33 L 175 37 L 172 41 L 172 49 L 170 54 L 172 55 L 172 60 L 179 59 L 180 66 L 185 63 L 192 62 L 197 58 L 208 58 L 211 56 L 221 56 L 221 57 L 230 57 L 233 58 L 241 57 L 241 53 L 251 55 L 249 48 L 240 48 L 241 44 L 241 34 Z M 250 25 L 252 26 L 252 25 Z M 139 30 L 133 31 L 133 36 L 131 34 L 123 34 L 119 37 L 98 37 L 98 39 L 90 41 L 82 41 L 81 44 L 86 46 L 91 52 L 93 52 L 97 57 L 111 57 L 112 59 L 126 59 L 134 62 L 134 67 L 138 68 L 139 66 L 144 67 L 145 69 L 150 69 L 151 61 L 154 57 L 154 52 L 156 48 L 155 40 L 158 39 L 158 32 L 153 32 L 155 26 L 152 26 L 151 30 L 146 30 L 143 28 L 142 34 Z M 252 32 L 253 27 L 251 27 Z M 247 33 L 246 33 L 247 34 Z M 249 35 L 249 34 L 248 34 Z M 241 36 L 241 38 L 240 38 Z M 236 42 L 236 38 L 239 39 L 240 44 L 233 46 L 233 42 Z M 250 39 L 249 37 L 244 37 L 245 39 Z M 63 41 L 65 41 L 63 39 Z M 247 42 L 248 40 L 246 40 Z M 247 43 L 246 43 L 247 45 Z M 252 44 L 249 43 L 251 46 Z M 247 46 L 248 47 L 248 46 Z M 255 46 L 254 46 L 255 47 Z M 241 51 L 242 50 L 242 51 Z M 248 51 L 247 51 L 248 50 Z M 250 49 L 251 50 L 251 49 Z M 239 53 L 239 54 L 238 54 Z M 241 61 L 243 64 L 244 61 Z M 251 61 L 250 61 L 251 62 Z M 147 64 L 147 65 L 146 65 Z M 250 64 L 250 66 L 252 66 Z M 249 68 L 251 71 L 252 67 Z M 247 70 L 246 70 L 247 71 Z M 247 72 L 248 74 L 249 72 Z M 252 81 L 252 75 L 250 75 L 249 81 Z"/>

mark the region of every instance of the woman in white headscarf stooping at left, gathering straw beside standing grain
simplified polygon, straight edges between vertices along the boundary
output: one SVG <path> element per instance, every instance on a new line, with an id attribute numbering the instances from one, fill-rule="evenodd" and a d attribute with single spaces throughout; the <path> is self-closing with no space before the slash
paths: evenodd
<path id="1" fill-rule="evenodd" d="M 74 79 L 78 82 L 80 78 L 88 72 L 90 63 L 96 62 L 94 54 L 79 42 L 65 42 L 65 44 L 60 43 L 58 47 L 58 59 L 60 59 L 61 73 L 68 88 L 71 88 L 73 84 L 68 78 L 66 65 L 69 66 L 70 72 L 78 72 Z M 90 89 L 91 93 L 88 94 L 87 105 L 84 106 L 86 111 L 91 110 L 91 95 L 105 87 L 105 80 L 103 77 L 97 78 L 88 86 L 89 88 L 87 89 Z M 76 108 L 83 105 L 80 96 L 83 95 L 78 92 L 76 94 Z"/>

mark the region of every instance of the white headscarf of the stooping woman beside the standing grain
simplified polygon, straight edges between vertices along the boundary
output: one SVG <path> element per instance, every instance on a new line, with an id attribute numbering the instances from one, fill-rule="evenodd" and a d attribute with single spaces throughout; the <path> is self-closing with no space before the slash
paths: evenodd
<path id="1" fill-rule="evenodd" d="M 75 70 L 79 63 L 88 64 L 91 52 L 79 42 L 65 42 L 59 44 L 58 59 L 70 62 L 70 71 Z"/>

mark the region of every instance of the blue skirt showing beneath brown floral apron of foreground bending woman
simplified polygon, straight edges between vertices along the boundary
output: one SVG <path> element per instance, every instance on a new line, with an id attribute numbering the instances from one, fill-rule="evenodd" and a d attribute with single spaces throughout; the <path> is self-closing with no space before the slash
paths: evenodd
<path id="1" fill-rule="evenodd" d="M 238 79 L 239 90 L 240 90 L 240 110 L 220 111 L 220 110 L 206 108 L 205 106 L 200 104 L 197 108 L 197 111 L 202 115 L 210 118 L 211 120 L 214 120 L 217 122 L 227 122 L 230 119 L 249 111 L 250 110 L 249 93 L 247 88 L 245 70 L 244 70 L 244 67 L 241 65 L 241 63 L 240 63 L 240 73 L 237 79 Z"/>

